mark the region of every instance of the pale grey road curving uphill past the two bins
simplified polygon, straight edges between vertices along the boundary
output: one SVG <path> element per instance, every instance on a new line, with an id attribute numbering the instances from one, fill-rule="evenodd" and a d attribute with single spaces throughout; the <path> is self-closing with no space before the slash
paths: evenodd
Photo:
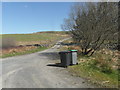
<path id="1" fill-rule="evenodd" d="M 66 68 L 55 66 L 56 60 L 60 60 L 58 43 L 44 51 L 2 59 L 0 87 L 94 88 L 84 79 L 70 75 Z"/>

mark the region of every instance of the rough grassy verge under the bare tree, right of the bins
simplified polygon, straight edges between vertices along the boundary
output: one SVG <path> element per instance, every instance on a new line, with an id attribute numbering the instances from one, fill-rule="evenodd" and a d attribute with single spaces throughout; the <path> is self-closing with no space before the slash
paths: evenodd
<path id="1" fill-rule="evenodd" d="M 64 43 L 71 42 L 72 39 L 64 41 Z M 85 78 L 88 82 L 99 87 L 120 87 L 120 70 L 118 69 L 118 62 L 120 61 L 119 51 L 102 49 L 90 57 L 81 55 L 79 46 L 64 46 L 60 51 L 70 49 L 78 50 L 78 65 L 68 67 L 68 71 L 72 75 Z"/>

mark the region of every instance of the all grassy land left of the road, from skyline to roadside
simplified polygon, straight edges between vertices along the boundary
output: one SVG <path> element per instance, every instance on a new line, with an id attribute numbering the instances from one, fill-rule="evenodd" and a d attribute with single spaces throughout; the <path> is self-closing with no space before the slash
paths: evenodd
<path id="1" fill-rule="evenodd" d="M 62 31 L 37 32 L 33 34 L 3 34 L 0 35 L 0 39 L 2 39 L 3 45 L 2 46 L 3 49 L 0 50 L 0 57 L 5 58 L 41 51 L 51 47 L 58 40 L 66 37 L 68 37 L 68 35 Z M 26 46 L 34 44 L 48 46 L 47 47 Z M 20 45 L 23 46 L 20 47 Z"/>

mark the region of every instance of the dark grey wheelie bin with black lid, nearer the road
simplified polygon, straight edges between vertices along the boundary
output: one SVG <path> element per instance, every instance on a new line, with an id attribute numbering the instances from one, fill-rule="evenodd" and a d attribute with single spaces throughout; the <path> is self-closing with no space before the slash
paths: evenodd
<path id="1" fill-rule="evenodd" d="M 71 62 L 71 51 L 61 51 L 59 54 L 61 59 L 61 66 L 69 66 Z"/>

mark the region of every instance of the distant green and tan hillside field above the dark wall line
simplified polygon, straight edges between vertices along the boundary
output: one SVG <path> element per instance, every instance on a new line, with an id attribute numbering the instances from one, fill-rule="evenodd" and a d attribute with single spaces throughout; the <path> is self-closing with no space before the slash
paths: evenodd
<path id="1" fill-rule="evenodd" d="M 25 44 L 44 44 L 50 43 L 57 39 L 66 37 L 63 32 L 39 32 L 33 34 L 3 34 L 0 38 L 12 38 L 16 41 L 17 45 Z"/>

